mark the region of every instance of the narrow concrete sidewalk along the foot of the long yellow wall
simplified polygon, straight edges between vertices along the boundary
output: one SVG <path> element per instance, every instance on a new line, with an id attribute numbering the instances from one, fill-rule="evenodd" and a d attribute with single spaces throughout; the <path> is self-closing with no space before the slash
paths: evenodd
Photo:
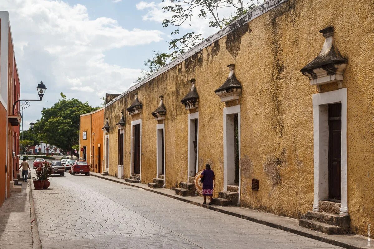
<path id="1" fill-rule="evenodd" d="M 295 233 L 301 236 L 305 236 L 311 239 L 319 240 L 325 243 L 329 243 L 335 246 L 341 246 L 343 248 L 349 249 L 367 249 L 368 246 L 367 238 L 359 235 L 341 234 L 341 235 L 329 235 L 320 233 L 317 231 L 309 230 L 304 227 L 299 226 L 299 220 L 278 216 L 270 213 L 265 213 L 262 211 L 257 211 L 249 208 L 243 208 L 238 206 L 216 206 L 216 205 L 206 205 L 203 204 L 203 198 L 200 196 L 179 196 L 175 194 L 174 190 L 171 189 L 152 189 L 147 186 L 147 184 L 142 183 L 128 183 L 124 179 L 119 179 L 109 175 L 101 175 L 99 173 L 90 172 L 90 175 L 98 178 L 102 178 L 109 181 L 114 181 L 116 183 L 125 184 L 132 187 L 138 187 L 153 193 L 162 194 L 177 200 L 181 200 L 187 203 L 191 203 L 203 208 L 208 208 L 213 211 L 221 212 L 228 215 L 233 215 L 245 220 L 254 221 L 263 225 L 268 225 L 270 227 L 278 228 L 283 231 L 288 231 L 290 233 Z M 371 247 L 372 248 L 372 247 Z"/>

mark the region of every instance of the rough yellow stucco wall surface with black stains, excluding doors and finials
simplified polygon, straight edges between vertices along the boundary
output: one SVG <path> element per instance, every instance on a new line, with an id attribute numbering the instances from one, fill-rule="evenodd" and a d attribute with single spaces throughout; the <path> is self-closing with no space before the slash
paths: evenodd
<path id="1" fill-rule="evenodd" d="M 120 111 L 138 92 L 143 104 L 141 182 L 156 177 L 156 124 L 151 112 L 163 94 L 166 107 L 166 187 L 187 180 L 187 116 L 180 100 L 196 79 L 199 93 L 199 168 L 209 163 L 216 175 L 214 195 L 223 190 L 223 108 L 214 90 L 235 64 L 242 84 L 242 206 L 299 218 L 313 204 L 313 106 L 316 87 L 300 69 L 314 59 L 335 28 L 335 44 L 348 59 L 347 88 L 348 208 L 351 229 L 365 234 L 374 222 L 374 4 L 372 0 L 289 0 L 242 25 L 174 68 L 105 108 L 110 124 L 109 174 L 117 172 Z M 335 84 L 322 92 L 337 89 Z M 137 116 L 140 118 L 140 115 Z M 126 112 L 125 178 L 131 164 L 131 117 Z M 260 181 L 258 192 L 251 180 Z"/>

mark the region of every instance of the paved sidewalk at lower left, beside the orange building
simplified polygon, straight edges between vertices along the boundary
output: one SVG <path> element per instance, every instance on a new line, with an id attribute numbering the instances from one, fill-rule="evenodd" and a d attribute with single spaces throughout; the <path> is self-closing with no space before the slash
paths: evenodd
<path id="1" fill-rule="evenodd" d="M 0 249 L 33 248 L 28 183 L 12 193 L 0 208 Z"/>

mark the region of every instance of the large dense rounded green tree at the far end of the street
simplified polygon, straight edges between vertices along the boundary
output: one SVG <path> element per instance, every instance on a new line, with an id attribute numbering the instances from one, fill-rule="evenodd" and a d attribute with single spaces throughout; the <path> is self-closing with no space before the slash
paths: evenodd
<path id="1" fill-rule="evenodd" d="M 64 93 L 60 95 L 61 99 L 55 105 L 43 108 L 42 118 L 37 120 L 34 130 L 46 143 L 76 155 L 71 147 L 79 143 L 79 116 L 98 108 L 93 108 L 88 102 L 82 103 L 78 99 L 67 99 Z"/>

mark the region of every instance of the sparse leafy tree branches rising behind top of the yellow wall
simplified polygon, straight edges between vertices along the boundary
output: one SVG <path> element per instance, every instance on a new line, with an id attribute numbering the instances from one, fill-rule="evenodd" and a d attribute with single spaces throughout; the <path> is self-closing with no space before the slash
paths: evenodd
<path id="1" fill-rule="evenodd" d="M 171 19 L 165 19 L 162 27 L 175 27 L 171 32 L 171 41 L 169 41 L 169 52 L 154 52 L 153 57 L 145 60 L 144 65 L 148 70 L 142 70 L 141 76 L 136 82 L 142 81 L 149 75 L 158 71 L 160 68 L 171 62 L 178 56 L 185 53 L 188 49 L 195 46 L 203 40 L 201 34 L 196 32 L 187 32 L 180 35 L 180 27 L 190 25 L 193 18 L 209 20 L 209 27 L 222 29 L 249 10 L 257 7 L 261 0 L 162 0 L 170 5 L 163 7 L 164 12 L 172 13 Z M 266 1 L 266 0 L 263 0 Z M 233 10 L 229 16 L 222 16 L 220 10 L 230 8 Z"/>

